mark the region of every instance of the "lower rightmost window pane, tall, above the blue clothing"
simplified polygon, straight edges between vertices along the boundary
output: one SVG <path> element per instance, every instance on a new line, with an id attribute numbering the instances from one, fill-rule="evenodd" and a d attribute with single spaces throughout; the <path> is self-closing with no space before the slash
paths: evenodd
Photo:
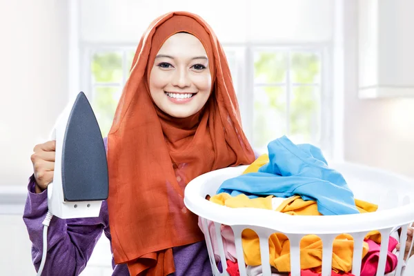
<path id="1" fill-rule="evenodd" d="M 319 87 L 294 87 L 290 97 L 290 137 L 297 144 L 315 144 L 320 127 Z"/>

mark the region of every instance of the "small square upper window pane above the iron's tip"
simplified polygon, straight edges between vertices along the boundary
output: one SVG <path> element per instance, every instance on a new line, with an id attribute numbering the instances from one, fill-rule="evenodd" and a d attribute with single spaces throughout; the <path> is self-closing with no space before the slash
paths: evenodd
<path id="1" fill-rule="evenodd" d="M 108 83 L 122 81 L 122 53 L 96 52 L 92 56 L 92 82 Z"/>

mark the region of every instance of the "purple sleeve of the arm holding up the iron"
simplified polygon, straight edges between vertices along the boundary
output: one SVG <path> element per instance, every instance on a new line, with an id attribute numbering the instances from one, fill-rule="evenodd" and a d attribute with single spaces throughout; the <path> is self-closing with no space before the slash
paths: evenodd
<path id="1" fill-rule="evenodd" d="M 39 269 L 43 252 L 43 219 L 48 212 L 47 190 L 34 193 L 34 176 L 28 184 L 23 221 L 32 242 L 32 262 Z M 48 254 L 43 272 L 47 275 L 79 275 L 86 267 L 102 230 L 108 238 L 108 206 L 102 202 L 99 217 L 59 219 L 52 217 L 48 228 Z M 109 250 L 109 249 L 108 249 Z"/>

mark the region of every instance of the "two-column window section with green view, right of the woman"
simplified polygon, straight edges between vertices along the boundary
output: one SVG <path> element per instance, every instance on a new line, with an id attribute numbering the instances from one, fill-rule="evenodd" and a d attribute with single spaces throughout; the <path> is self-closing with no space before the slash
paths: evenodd
<path id="1" fill-rule="evenodd" d="M 253 145 L 288 135 L 320 146 L 321 55 L 317 50 L 254 48 Z"/>

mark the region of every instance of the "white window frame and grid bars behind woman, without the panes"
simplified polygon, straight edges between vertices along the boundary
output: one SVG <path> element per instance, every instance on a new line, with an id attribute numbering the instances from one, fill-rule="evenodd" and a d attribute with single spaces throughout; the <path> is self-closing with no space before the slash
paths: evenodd
<path id="1" fill-rule="evenodd" d="M 266 87 L 281 87 L 286 89 L 286 103 L 289 103 L 292 96 L 292 90 L 296 86 L 312 86 L 319 87 L 320 89 L 320 133 L 318 146 L 323 150 L 324 155 L 327 158 L 331 158 L 333 151 L 333 88 L 332 88 L 332 53 L 331 45 L 329 43 L 301 43 L 292 45 L 280 45 L 280 44 L 232 44 L 223 45 L 226 55 L 228 57 L 228 63 L 232 72 L 235 91 L 237 93 L 237 99 L 239 101 L 239 108 L 242 114 L 242 124 L 244 132 L 249 141 L 253 141 L 253 115 L 254 115 L 254 91 L 255 88 L 260 86 Z M 130 51 L 136 50 L 136 44 L 122 44 L 122 45 L 101 45 L 87 43 L 83 46 L 83 58 L 81 67 L 81 87 L 88 88 L 88 91 L 84 91 L 89 99 L 93 99 L 93 91 L 96 87 L 114 87 L 121 89 L 124 87 L 129 75 L 129 64 L 126 64 L 127 54 Z M 255 83 L 254 81 L 254 54 L 255 51 L 266 52 L 286 52 L 290 55 L 291 52 L 311 52 L 317 54 L 320 58 L 321 72 L 318 83 L 295 83 L 290 77 L 290 59 L 286 59 L 286 81 L 283 83 Z M 90 64 L 95 52 L 121 52 L 123 60 L 122 79 L 115 83 L 93 83 L 92 72 L 90 70 Z M 286 107 L 288 115 L 289 108 Z M 289 131 L 290 119 L 286 116 L 286 126 Z M 276 137 L 275 137 L 276 138 Z M 263 150 L 263 149 L 259 149 Z"/>

